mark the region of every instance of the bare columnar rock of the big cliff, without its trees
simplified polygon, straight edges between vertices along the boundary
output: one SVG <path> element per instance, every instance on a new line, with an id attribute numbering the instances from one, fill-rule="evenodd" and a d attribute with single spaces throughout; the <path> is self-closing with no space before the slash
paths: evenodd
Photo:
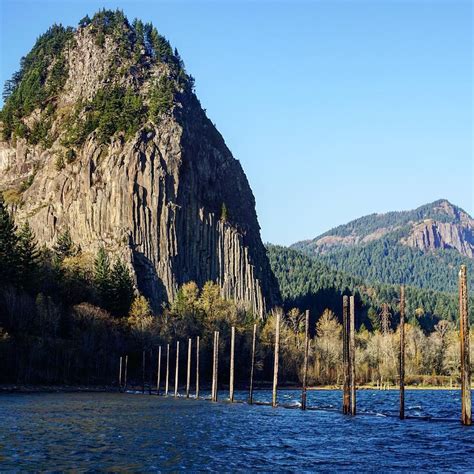
<path id="1" fill-rule="evenodd" d="M 62 107 L 100 88 L 103 68 L 88 72 L 91 64 L 106 64 L 107 54 L 107 43 L 99 49 L 79 30 L 67 56 Z M 263 316 L 280 296 L 247 178 L 194 94 L 178 94 L 176 102 L 172 114 L 132 138 L 117 134 L 103 145 L 92 133 L 62 169 L 59 140 L 47 149 L 22 139 L 2 142 L 0 187 L 34 176 L 15 205 L 17 219 L 27 219 L 47 246 L 69 229 L 83 251 L 104 245 L 120 254 L 156 309 L 183 283 L 212 280 L 227 298 Z"/>

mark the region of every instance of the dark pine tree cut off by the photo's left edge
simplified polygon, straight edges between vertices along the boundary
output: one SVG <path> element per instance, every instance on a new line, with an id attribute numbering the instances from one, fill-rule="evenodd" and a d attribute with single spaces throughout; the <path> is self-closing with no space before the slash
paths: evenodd
<path id="1" fill-rule="evenodd" d="M 0 193 L 0 285 L 15 283 L 18 274 L 18 237 L 13 217 Z"/>

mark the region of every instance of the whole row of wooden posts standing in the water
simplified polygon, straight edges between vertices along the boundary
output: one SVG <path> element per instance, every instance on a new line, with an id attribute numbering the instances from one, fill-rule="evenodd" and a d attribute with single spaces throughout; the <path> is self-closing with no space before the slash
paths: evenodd
<path id="1" fill-rule="evenodd" d="M 405 418 L 405 288 L 400 288 L 400 350 L 399 350 L 399 376 L 400 376 L 400 419 Z M 467 291 L 467 272 L 466 267 L 461 266 L 459 272 L 459 317 L 460 317 L 460 342 L 461 342 L 461 401 L 462 415 L 461 422 L 464 425 L 471 425 L 471 372 L 469 356 L 469 319 L 468 319 L 468 291 Z M 342 412 L 346 415 L 356 414 L 356 364 L 355 364 L 355 304 L 354 296 L 343 296 L 342 298 L 342 335 L 343 335 L 343 402 Z M 278 363 L 280 352 L 280 314 L 277 313 L 275 321 L 275 350 L 273 365 L 273 389 L 272 406 L 277 406 L 278 391 Z M 303 380 L 301 391 L 301 409 L 307 407 L 307 374 L 308 374 L 308 352 L 309 352 L 309 311 L 306 311 L 305 321 L 305 341 L 304 341 L 304 359 L 303 359 Z M 252 357 L 250 363 L 250 383 L 248 403 L 253 403 L 254 390 L 254 369 L 255 369 L 255 351 L 256 351 L 257 325 L 253 326 L 252 338 Z M 234 401 L 234 368 L 235 368 L 235 327 L 231 329 L 230 345 L 230 374 L 229 374 L 229 400 Z M 195 376 L 195 398 L 199 398 L 199 348 L 200 338 L 196 338 L 196 376 Z M 178 396 L 179 381 L 179 348 L 180 342 L 176 342 L 176 365 L 174 378 L 174 396 Z M 187 351 L 187 376 L 186 376 L 186 398 L 189 398 L 191 391 L 191 358 L 192 358 L 192 339 L 188 339 Z M 120 357 L 119 386 L 125 390 L 127 386 L 127 367 L 128 355 L 124 359 L 124 371 L 122 371 L 123 358 Z M 218 399 L 218 365 L 219 365 L 219 331 L 214 331 L 213 356 L 212 356 L 212 386 L 211 400 L 216 402 Z M 143 371 L 143 392 L 145 392 L 145 352 L 143 352 L 142 361 Z M 122 372 L 124 383 L 122 384 Z M 169 395 L 169 374 L 170 374 L 170 344 L 166 346 L 166 378 L 164 394 Z M 161 346 L 158 347 L 158 370 L 156 379 L 156 393 L 159 395 L 161 390 Z M 150 386 L 151 393 L 151 386 Z"/>

